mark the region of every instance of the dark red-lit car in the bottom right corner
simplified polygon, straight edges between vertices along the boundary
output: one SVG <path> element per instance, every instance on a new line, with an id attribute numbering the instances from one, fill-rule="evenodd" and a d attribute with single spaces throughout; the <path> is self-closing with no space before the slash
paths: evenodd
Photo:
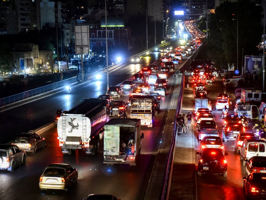
<path id="1" fill-rule="evenodd" d="M 251 173 L 244 176 L 243 189 L 249 199 L 265 199 L 266 196 L 266 173 Z"/>

